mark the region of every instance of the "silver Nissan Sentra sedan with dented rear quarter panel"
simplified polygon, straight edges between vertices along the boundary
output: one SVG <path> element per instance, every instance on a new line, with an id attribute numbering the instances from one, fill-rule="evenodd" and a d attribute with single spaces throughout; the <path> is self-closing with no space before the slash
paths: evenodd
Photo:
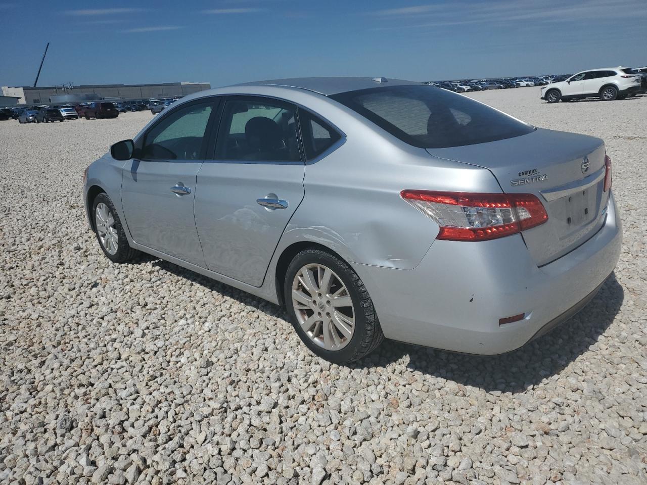
<path id="1" fill-rule="evenodd" d="M 620 253 L 602 140 L 410 81 L 193 94 L 84 182 L 111 261 L 149 253 L 285 305 L 337 363 L 384 338 L 517 349 L 584 307 Z"/>

